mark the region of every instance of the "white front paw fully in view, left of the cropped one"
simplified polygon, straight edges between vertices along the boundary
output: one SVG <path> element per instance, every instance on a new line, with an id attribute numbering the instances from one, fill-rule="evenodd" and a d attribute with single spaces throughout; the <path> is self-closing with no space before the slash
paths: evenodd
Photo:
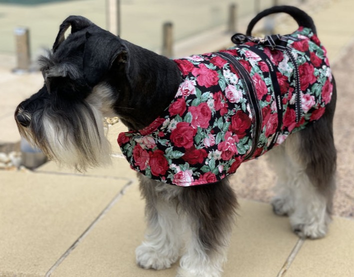
<path id="1" fill-rule="evenodd" d="M 135 249 L 136 263 L 145 269 L 153 268 L 156 270 L 171 267 L 177 260 L 178 254 L 172 250 L 156 249 L 152 245 L 142 243 Z"/>

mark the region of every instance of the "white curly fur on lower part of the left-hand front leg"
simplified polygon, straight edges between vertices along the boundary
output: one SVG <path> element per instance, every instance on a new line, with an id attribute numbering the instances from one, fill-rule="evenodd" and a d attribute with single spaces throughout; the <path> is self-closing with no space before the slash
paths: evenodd
<path id="1" fill-rule="evenodd" d="M 148 220 L 145 241 L 135 250 L 142 268 L 169 268 L 178 258 L 182 244 L 181 218 L 174 206 L 162 200 L 155 205 L 156 218 Z"/>

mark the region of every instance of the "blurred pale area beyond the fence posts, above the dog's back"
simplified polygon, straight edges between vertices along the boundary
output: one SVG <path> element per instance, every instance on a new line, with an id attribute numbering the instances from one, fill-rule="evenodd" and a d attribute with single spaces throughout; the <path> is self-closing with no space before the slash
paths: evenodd
<path id="1" fill-rule="evenodd" d="M 82 15 L 116 33 L 111 17 L 119 3 L 120 36 L 142 47 L 159 51 L 162 25 L 173 23 L 173 39 L 180 41 L 227 24 L 230 4 L 237 3 L 239 17 L 252 16 L 273 4 L 301 0 L 0 0 L 0 53 L 15 53 L 14 29 L 29 29 L 33 59 L 42 48 L 50 48 L 59 24 L 68 15 Z M 113 20 L 114 21 L 114 20 Z M 240 30 L 244 31 L 244 30 Z"/>

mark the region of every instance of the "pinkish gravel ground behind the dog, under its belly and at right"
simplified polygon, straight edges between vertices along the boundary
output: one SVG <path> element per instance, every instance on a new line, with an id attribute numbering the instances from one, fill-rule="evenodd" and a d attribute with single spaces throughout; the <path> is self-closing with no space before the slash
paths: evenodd
<path id="1" fill-rule="evenodd" d="M 337 189 L 333 213 L 354 218 L 354 42 L 332 64 L 337 84 L 334 139 L 337 148 Z M 237 169 L 231 183 L 239 197 L 269 202 L 275 175 L 261 156 Z"/>

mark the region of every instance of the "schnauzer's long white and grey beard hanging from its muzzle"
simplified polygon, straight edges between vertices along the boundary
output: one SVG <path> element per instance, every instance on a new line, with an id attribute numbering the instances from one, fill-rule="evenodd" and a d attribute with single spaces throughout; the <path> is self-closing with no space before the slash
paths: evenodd
<path id="1" fill-rule="evenodd" d="M 45 109 L 34 113 L 28 128 L 18 129 L 50 159 L 85 171 L 110 162 L 101 112 L 92 104 L 79 103 L 65 111 Z"/>

